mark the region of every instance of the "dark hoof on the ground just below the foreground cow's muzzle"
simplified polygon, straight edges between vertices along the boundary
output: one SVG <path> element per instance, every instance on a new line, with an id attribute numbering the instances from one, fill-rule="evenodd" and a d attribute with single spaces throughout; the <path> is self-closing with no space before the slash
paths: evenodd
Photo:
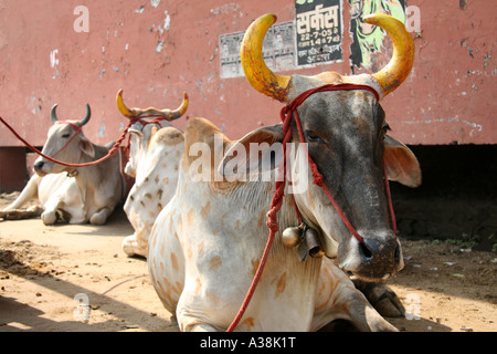
<path id="1" fill-rule="evenodd" d="M 356 288 L 361 291 L 369 303 L 385 317 L 401 317 L 405 314 L 396 294 L 383 283 L 368 283 L 358 279 L 353 280 Z"/>

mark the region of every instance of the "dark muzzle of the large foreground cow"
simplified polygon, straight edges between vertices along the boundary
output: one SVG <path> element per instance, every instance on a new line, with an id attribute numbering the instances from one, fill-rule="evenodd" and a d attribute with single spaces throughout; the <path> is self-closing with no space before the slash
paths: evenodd
<path id="1" fill-rule="evenodd" d="M 351 238 L 339 247 L 338 261 L 342 270 L 363 281 L 387 281 L 404 267 L 401 244 L 393 235 L 363 238 L 363 242 Z"/>

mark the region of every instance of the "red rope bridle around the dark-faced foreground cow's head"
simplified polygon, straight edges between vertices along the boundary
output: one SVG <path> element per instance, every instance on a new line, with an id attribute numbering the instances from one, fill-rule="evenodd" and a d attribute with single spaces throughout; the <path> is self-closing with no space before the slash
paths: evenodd
<path id="1" fill-rule="evenodd" d="M 273 196 L 273 200 L 271 201 L 271 208 L 269 211 L 267 212 L 267 221 L 266 221 L 266 226 L 269 229 L 269 236 L 266 242 L 266 247 L 264 248 L 264 252 L 263 256 L 261 258 L 261 262 L 257 267 L 257 271 L 255 272 L 254 279 L 252 281 L 252 284 L 245 295 L 245 299 L 239 310 L 239 313 L 236 314 L 235 319 L 233 320 L 233 322 L 231 323 L 231 325 L 228 327 L 228 332 L 233 332 L 234 329 L 236 327 L 236 325 L 239 324 L 240 320 L 242 319 L 243 314 L 245 313 L 246 308 L 248 306 L 252 296 L 255 292 L 255 289 L 258 284 L 258 281 L 261 280 L 262 277 L 262 272 L 264 270 L 264 267 L 266 264 L 268 254 L 269 254 L 269 250 L 273 244 L 274 238 L 276 232 L 278 231 L 279 227 L 278 227 L 278 221 L 277 221 L 277 212 L 279 211 L 279 209 L 282 208 L 282 204 L 283 204 L 283 196 L 285 195 L 285 183 L 286 183 L 286 144 L 290 142 L 292 136 L 293 136 L 293 128 L 290 125 L 292 122 L 292 117 L 295 116 L 295 123 L 297 125 L 297 131 L 298 131 L 298 135 L 300 138 L 302 143 L 305 143 L 305 137 L 304 137 L 304 132 L 300 125 L 300 117 L 298 116 L 298 112 L 297 108 L 299 105 L 302 105 L 304 103 L 304 101 L 306 101 L 310 95 L 318 93 L 318 92 L 325 92 L 325 91 L 350 91 L 350 90 L 367 90 L 371 93 L 374 94 L 377 101 L 380 100 L 379 94 L 376 90 L 373 90 L 372 87 L 368 86 L 368 85 L 358 85 L 358 84 L 328 84 L 328 85 L 324 85 L 317 88 L 311 88 L 309 91 L 306 91 L 304 93 L 302 93 L 300 95 L 298 95 L 295 100 L 293 100 L 288 105 L 286 105 L 285 107 L 283 107 L 283 110 L 279 113 L 279 117 L 283 122 L 283 169 L 279 170 L 279 178 L 277 178 L 276 183 L 275 183 L 275 192 Z M 327 186 L 324 183 L 324 177 L 322 175 L 319 173 L 316 164 L 314 163 L 313 158 L 310 157 L 310 155 L 307 153 L 307 157 L 308 157 L 308 162 L 309 162 L 309 166 L 310 169 L 313 171 L 313 177 L 314 177 L 314 184 L 321 187 L 322 190 L 325 191 L 326 196 L 328 197 L 328 199 L 330 200 L 331 205 L 334 206 L 334 208 L 337 210 L 338 215 L 340 216 L 341 220 L 343 221 L 343 223 L 347 226 L 347 228 L 349 229 L 349 231 L 353 235 L 353 237 L 361 243 L 363 243 L 363 239 L 362 237 L 359 235 L 359 232 L 353 228 L 353 226 L 350 223 L 350 221 L 347 219 L 347 217 L 345 216 L 345 214 L 341 211 L 340 207 L 338 206 L 338 204 L 336 202 L 336 200 L 334 199 L 334 197 L 331 196 L 330 191 L 328 190 Z M 385 169 L 385 164 L 383 160 L 383 173 L 384 173 L 384 185 L 385 185 L 385 190 L 387 190 L 387 197 L 389 200 L 389 209 L 390 209 L 390 216 L 391 216 L 391 221 L 392 221 L 392 229 L 394 235 L 396 235 L 396 225 L 395 225 L 395 217 L 394 217 L 394 212 L 393 212 L 393 204 L 391 200 L 391 195 L 390 195 L 390 185 L 389 185 L 389 180 L 387 178 L 387 169 Z M 281 175 L 283 174 L 283 176 Z M 297 215 L 299 216 L 298 212 L 298 208 L 297 208 Z M 299 217 L 300 218 L 300 217 Z"/>

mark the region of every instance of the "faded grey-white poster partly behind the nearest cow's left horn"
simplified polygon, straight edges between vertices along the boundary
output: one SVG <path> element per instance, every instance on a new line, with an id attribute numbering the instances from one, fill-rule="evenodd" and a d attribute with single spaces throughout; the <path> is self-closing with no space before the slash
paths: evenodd
<path id="1" fill-rule="evenodd" d="M 243 76 L 240 46 L 245 32 L 220 35 L 221 79 Z M 294 22 L 276 23 L 264 38 L 263 55 L 266 65 L 273 71 L 295 69 Z"/>

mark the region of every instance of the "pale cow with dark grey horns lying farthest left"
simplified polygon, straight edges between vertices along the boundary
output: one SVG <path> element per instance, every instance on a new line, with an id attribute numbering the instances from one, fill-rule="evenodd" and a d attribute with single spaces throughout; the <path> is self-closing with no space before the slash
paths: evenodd
<path id="1" fill-rule="evenodd" d="M 52 127 L 42 153 L 70 164 L 83 164 L 107 155 L 114 143 L 98 146 L 89 142 L 82 127 L 91 117 L 89 105 L 81 121 L 59 121 L 54 105 Z M 27 201 L 38 198 L 45 225 L 56 221 L 103 225 L 123 198 L 125 186 L 119 170 L 119 156 L 87 167 L 73 168 L 39 157 L 34 171 L 19 197 L 3 212 L 13 212 Z"/>

